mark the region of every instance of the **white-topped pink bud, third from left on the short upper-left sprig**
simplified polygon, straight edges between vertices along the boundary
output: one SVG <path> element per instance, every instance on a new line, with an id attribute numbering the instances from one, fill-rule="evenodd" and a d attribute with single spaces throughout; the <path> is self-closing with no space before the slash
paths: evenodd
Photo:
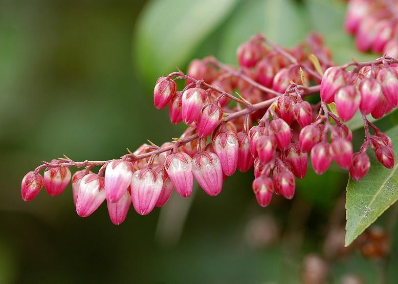
<path id="1" fill-rule="evenodd" d="M 200 88 L 191 88 L 183 93 L 182 116 L 185 124 L 191 124 L 197 120 L 205 100 L 206 91 Z"/>

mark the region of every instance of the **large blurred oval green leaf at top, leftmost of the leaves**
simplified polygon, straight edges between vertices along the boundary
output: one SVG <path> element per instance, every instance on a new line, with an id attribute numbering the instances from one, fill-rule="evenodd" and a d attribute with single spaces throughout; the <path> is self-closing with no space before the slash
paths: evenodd
<path id="1" fill-rule="evenodd" d="M 135 61 L 147 81 L 184 64 L 238 0 L 151 1 L 138 20 Z"/>

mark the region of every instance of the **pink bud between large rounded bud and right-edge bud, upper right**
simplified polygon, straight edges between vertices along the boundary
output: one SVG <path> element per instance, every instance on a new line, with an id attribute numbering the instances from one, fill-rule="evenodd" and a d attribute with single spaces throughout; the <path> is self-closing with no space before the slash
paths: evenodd
<path id="1" fill-rule="evenodd" d="M 359 109 L 364 115 L 370 114 L 373 111 L 375 104 L 382 96 L 382 87 L 380 83 L 373 78 L 364 78 L 359 85 L 361 92 L 361 104 Z"/>

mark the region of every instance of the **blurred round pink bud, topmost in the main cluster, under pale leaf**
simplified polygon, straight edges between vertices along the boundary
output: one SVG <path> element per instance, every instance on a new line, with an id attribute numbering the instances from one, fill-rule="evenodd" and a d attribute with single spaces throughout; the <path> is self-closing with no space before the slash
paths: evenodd
<path id="1" fill-rule="evenodd" d="M 256 39 L 251 39 L 248 42 L 242 43 L 236 52 L 240 66 L 254 67 L 258 61 L 266 54 L 266 48 L 262 42 Z"/>

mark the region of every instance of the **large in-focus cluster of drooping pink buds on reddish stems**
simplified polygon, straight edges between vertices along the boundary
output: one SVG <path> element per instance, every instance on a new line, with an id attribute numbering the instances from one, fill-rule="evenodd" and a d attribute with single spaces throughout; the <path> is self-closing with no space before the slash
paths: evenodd
<path id="1" fill-rule="evenodd" d="M 110 220 L 120 224 L 131 203 L 139 214 L 148 214 L 164 206 L 174 189 L 188 198 L 194 180 L 215 196 L 236 170 L 252 166 L 259 205 L 269 205 L 274 193 L 292 199 L 295 178 L 306 174 L 308 152 L 316 173 L 334 160 L 354 180 L 369 170 L 368 147 L 383 165 L 394 165 L 391 140 L 365 115 L 380 118 L 398 106 L 397 60 L 331 67 L 330 52 L 316 34 L 293 49 L 256 35 L 238 48 L 237 59 L 238 69 L 213 57 L 195 59 L 186 74 L 178 70 L 157 80 L 154 105 L 168 106 L 170 121 L 188 126 L 180 138 L 161 146 L 148 140 L 120 159 L 74 162 L 65 156 L 46 162 L 24 177 L 23 199 L 34 199 L 43 185 L 59 195 L 72 179 L 79 216 L 91 215 L 106 200 Z M 186 82 L 181 91 L 177 80 Z M 317 93 L 318 103 L 304 100 Z M 352 133 L 343 122 L 358 108 L 365 141 L 353 154 Z M 96 166 L 98 173 L 92 172 Z M 69 167 L 84 169 L 71 177 Z"/>

